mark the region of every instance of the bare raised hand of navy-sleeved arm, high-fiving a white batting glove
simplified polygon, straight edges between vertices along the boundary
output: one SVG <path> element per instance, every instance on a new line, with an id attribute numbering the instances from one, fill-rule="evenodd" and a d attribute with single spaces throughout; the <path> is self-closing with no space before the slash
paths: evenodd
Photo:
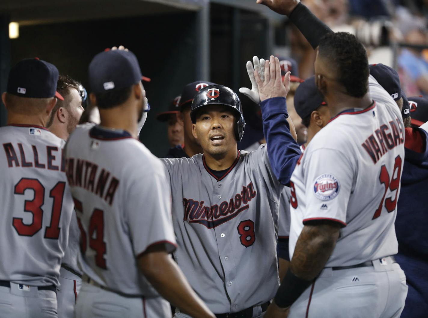
<path id="1" fill-rule="evenodd" d="M 284 83 L 282 83 L 281 67 L 279 59 L 270 56 L 269 61 L 265 62 L 265 80 L 262 80 L 258 72 L 254 72 L 257 86 L 259 87 L 260 101 L 265 101 L 273 97 L 287 97 L 290 91 L 290 72 L 285 74 Z"/>

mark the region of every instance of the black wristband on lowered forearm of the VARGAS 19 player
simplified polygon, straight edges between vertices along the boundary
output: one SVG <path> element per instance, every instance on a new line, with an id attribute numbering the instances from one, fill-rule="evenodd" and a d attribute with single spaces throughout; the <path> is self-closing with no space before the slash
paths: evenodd
<path id="1" fill-rule="evenodd" d="M 288 269 L 276 292 L 274 298 L 276 305 L 279 308 L 290 307 L 311 284 L 312 281 L 301 279 Z"/>

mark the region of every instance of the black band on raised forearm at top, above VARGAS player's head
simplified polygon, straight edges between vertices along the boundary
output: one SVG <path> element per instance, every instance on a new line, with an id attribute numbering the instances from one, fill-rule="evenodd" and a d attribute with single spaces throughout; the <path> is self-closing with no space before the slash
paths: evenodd
<path id="1" fill-rule="evenodd" d="M 327 33 L 333 31 L 324 22 L 319 20 L 303 3 L 299 2 L 288 16 L 291 22 L 299 29 L 309 44 L 315 50 L 320 40 Z"/>

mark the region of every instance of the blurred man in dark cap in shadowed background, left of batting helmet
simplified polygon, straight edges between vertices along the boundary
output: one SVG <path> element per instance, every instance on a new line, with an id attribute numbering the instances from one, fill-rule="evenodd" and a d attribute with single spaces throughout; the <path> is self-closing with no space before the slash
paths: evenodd
<path id="1" fill-rule="evenodd" d="M 180 113 L 178 104 L 180 103 L 181 96 L 177 96 L 169 105 L 166 112 L 159 113 L 156 119 L 160 122 L 168 123 L 168 142 L 170 147 L 184 144 L 183 125 L 177 120 L 177 114 Z"/>

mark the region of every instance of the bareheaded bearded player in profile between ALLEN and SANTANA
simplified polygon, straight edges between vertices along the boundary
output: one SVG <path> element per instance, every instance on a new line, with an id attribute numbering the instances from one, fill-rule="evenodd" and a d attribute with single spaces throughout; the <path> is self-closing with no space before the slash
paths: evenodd
<path id="1" fill-rule="evenodd" d="M 76 128 L 83 113 L 83 86 L 67 75 L 59 74 L 57 91 L 64 97 L 53 108 L 53 122 L 49 131 L 57 137 L 67 140 L 69 134 Z M 68 246 L 62 259 L 59 271 L 60 287 L 57 291 L 58 316 L 62 318 L 74 317 L 74 304 L 82 284 L 82 273 L 77 266 L 79 252 L 80 231 L 77 226 L 76 213 L 71 217 L 68 235 Z"/>

